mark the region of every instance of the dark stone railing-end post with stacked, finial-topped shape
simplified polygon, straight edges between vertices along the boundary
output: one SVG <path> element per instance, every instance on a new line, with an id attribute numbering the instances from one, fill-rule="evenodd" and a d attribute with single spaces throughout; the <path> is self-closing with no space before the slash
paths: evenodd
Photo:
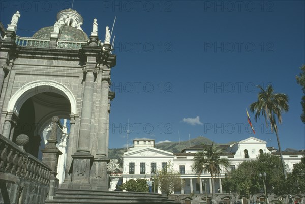
<path id="1" fill-rule="evenodd" d="M 59 118 L 54 116 L 52 118 L 52 129 L 50 133 L 50 137 L 47 140 L 48 143 L 45 145 L 45 149 L 42 149 L 42 162 L 48 165 L 51 168 L 50 175 L 50 190 L 47 199 L 53 199 L 53 196 L 56 194 L 56 191 L 59 186 L 59 179 L 57 176 L 57 165 L 58 165 L 58 157 L 62 154 L 56 147 L 57 142 L 57 126 L 59 123 Z"/>

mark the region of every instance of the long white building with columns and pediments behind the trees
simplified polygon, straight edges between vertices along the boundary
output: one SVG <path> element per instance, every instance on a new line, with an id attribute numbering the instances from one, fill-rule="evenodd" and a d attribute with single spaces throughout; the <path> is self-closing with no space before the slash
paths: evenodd
<path id="1" fill-rule="evenodd" d="M 261 153 L 271 153 L 279 155 L 275 149 L 267 148 L 267 142 L 250 137 L 231 145 L 222 145 L 226 150 L 221 157 L 230 160 L 230 169 L 235 169 L 243 161 L 250 161 L 257 158 Z M 193 158 L 196 152 L 202 151 L 201 145 L 195 145 L 182 150 L 180 153 L 171 153 L 155 148 L 155 140 L 153 139 L 135 139 L 134 147 L 123 155 L 123 183 L 129 179 L 148 179 L 151 174 L 160 170 L 167 162 L 173 164 L 174 170 L 180 172 L 185 186 L 181 191 L 175 194 L 203 193 L 204 186 L 202 182 L 198 182 L 198 176 L 192 171 Z M 288 171 L 292 171 L 293 165 L 301 161 L 301 157 L 305 152 L 283 152 L 283 158 L 288 165 Z M 215 193 L 223 193 L 221 181 L 225 177 L 225 170 L 222 171 L 220 177 L 215 178 Z M 204 179 L 207 183 L 207 193 L 212 193 L 211 176 L 209 173 L 202 174 L 200 179 Z M 159 189 L 160 193 L 160 189 Z"/>

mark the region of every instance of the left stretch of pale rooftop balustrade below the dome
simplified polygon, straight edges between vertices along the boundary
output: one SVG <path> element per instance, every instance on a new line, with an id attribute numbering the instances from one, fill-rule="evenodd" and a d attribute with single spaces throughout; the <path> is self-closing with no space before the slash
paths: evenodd
<path id="1" fill-rule="evenodd" d="M 50 39 L 16 36 L 16 44 L 25 47 L 49 48 Z"/>

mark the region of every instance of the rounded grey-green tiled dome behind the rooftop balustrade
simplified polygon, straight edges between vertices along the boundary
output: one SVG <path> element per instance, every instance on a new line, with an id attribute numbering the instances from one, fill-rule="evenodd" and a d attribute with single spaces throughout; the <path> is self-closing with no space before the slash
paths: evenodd
<path id="1" fill-rule="evenodd" d="M 54 26 L 44 27 L 38 30 L 32 37 L 33 38 L 50 38 Z M 85 32 L 75 27 L 64 25 L 58 34 L 60 40 L 71 41 L 87 41 L 89 38 Z"/>

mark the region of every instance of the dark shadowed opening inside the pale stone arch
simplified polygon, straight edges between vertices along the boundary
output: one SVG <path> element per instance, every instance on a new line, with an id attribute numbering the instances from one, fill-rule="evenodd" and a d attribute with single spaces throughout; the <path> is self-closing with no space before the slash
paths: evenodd
<path id="1" fill-rule="evenodd" d="M 69 100 L 53 92 L 43 92 L 28 98 L 19 111 L 19 122 L 14 130 L 13 142 L 20 134 L 26 134 L 29 142 L 24 146 L 26 152 L 41 159 L 40 149 L 44 148 L 46 137 L 43 131 L 50 124 L 53 116 L 69 119 L 71 105 Z"/>

